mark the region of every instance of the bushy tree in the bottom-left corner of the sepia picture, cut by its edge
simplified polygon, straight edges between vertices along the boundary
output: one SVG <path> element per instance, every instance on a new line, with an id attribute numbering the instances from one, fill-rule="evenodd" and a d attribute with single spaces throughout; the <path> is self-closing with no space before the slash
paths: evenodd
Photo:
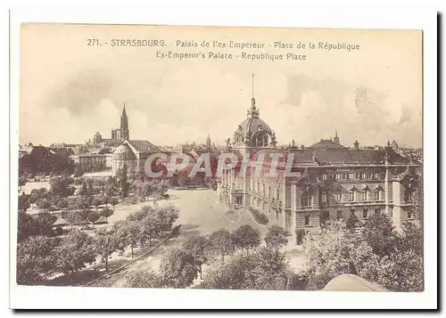
<path id="1" fill-rule="evenodd" d="M 32 236 L 17 245 L 17 283 L 34 285 L 43 276 L 54 273 L 54 249 L 60 240 L 47 236 Z"/>

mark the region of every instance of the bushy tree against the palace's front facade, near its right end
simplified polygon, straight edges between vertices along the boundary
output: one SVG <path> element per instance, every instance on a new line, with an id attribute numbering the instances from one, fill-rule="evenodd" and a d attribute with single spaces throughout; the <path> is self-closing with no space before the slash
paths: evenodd
<path id="1" fill-rule="evenodd" d="M 362 237 L 379 257 L 390 255 L 395 251 L 397 233 L 391 220 L 383 213 L 376 213 L 368 218 Z"/>

